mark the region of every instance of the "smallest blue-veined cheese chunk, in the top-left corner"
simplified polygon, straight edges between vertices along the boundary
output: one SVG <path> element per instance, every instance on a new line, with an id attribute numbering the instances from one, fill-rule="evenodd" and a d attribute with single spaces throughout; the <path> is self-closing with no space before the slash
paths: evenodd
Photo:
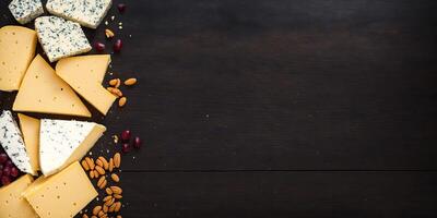
<path id="1" fill-rule="evenodd" d="M 26 24 L 44 13 L 40 0 L 13 0 L 9 10 L 21 24 Z"/>

